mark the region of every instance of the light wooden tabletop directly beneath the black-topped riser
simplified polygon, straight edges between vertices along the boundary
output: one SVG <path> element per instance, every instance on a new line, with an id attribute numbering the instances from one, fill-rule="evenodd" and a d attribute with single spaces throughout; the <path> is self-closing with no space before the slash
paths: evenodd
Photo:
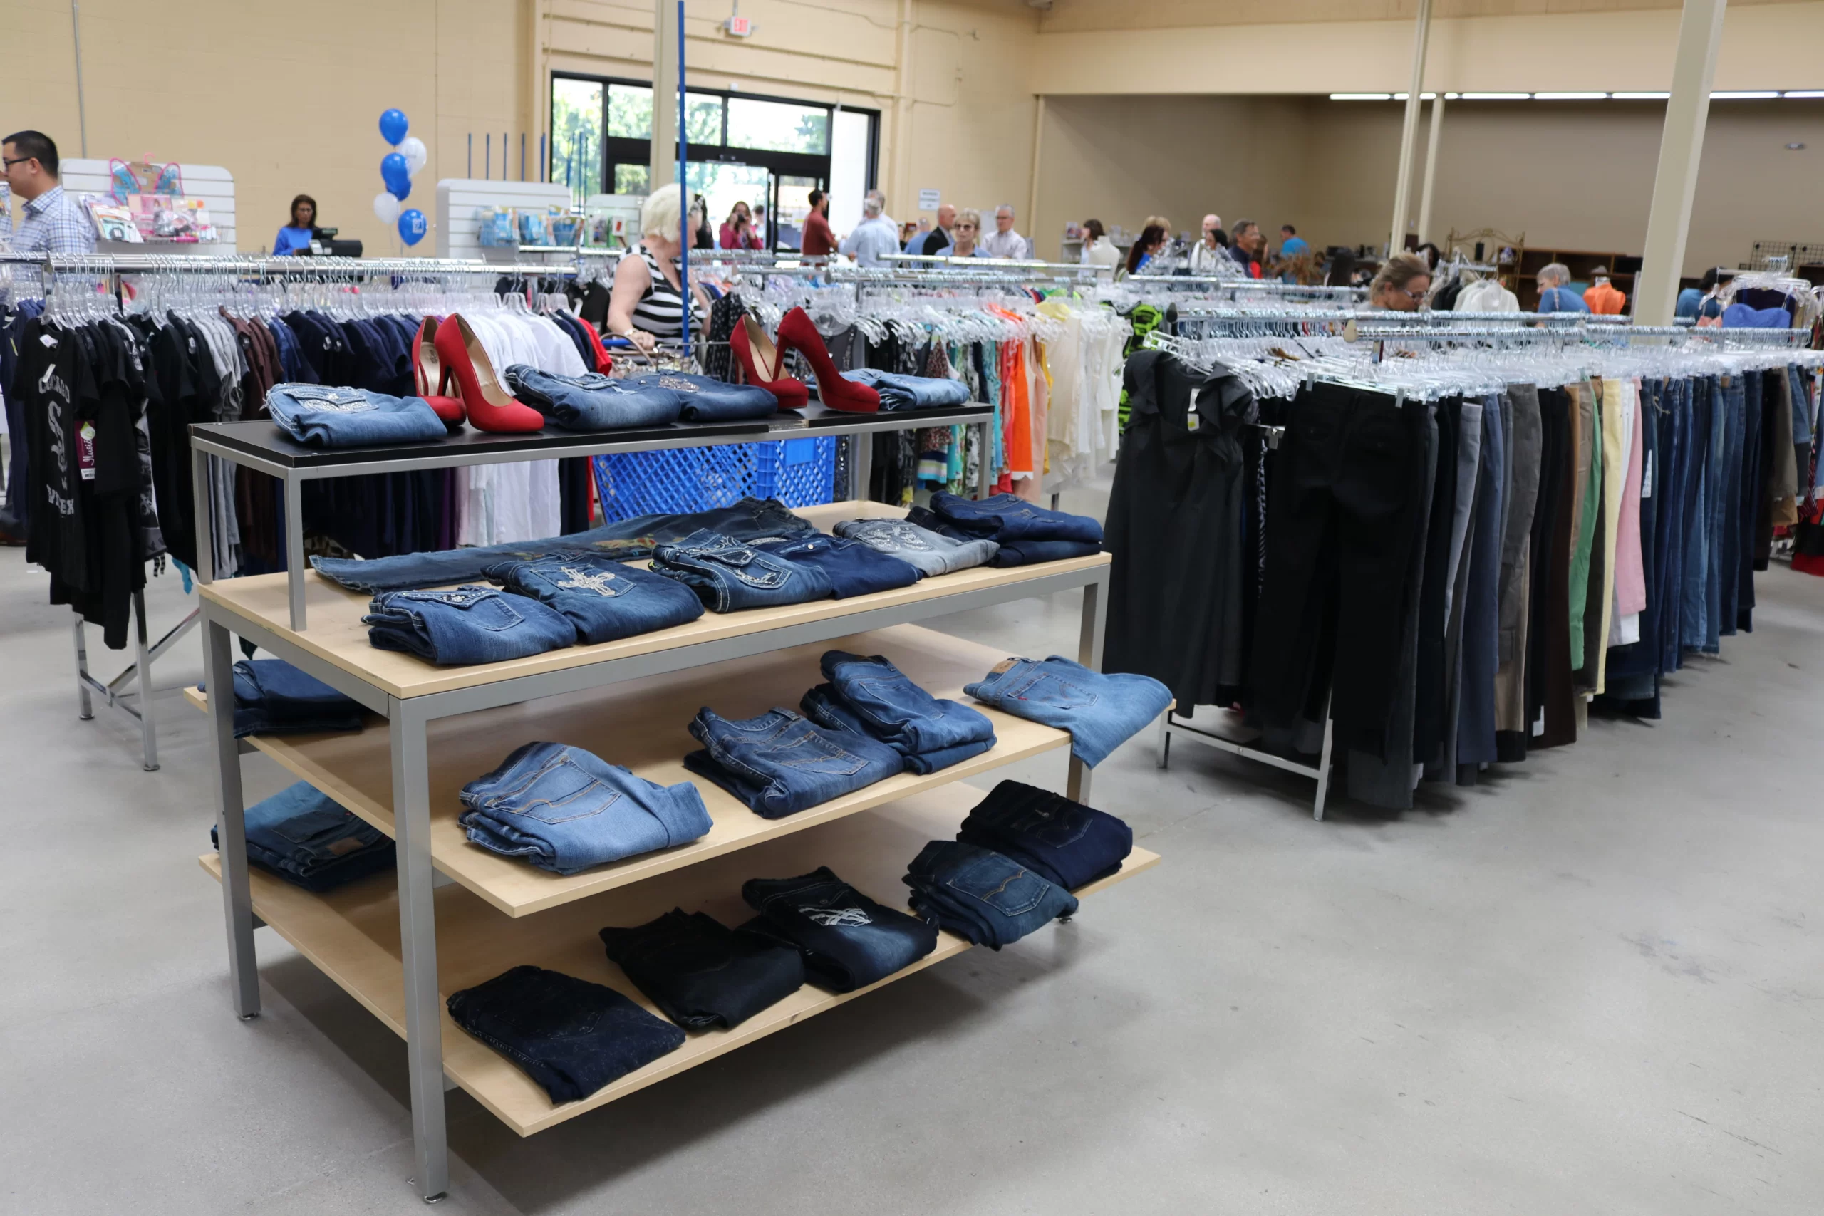
<path id="1" fill-rule="evenodd" d="M 841 520 L 857 516 L 903 518 L 905 509 L 885 503 L 846 501 L 823 507 L 801 507 L 797 514 L 810 520 L 819 529 L 828 531 Z M 516 676 L 542 675 L 584 667 L 611 658 L 629 658 L 657 651 L 717 642 L 741 634 L 757 634 L 770 629 L 801 625 L 808 622 L 837 620 L 879 607 L 917 603 L 923 600 L 941 600 L 945 596 L 989 587 L 1007 587 L 1047 574 L 1069 571 L 1089 571 L 1111 562 L 1109 554 L 1089 558 L 1071 558 L 1065 562 L 1047 562 L 1043 565 L 1016 565 L 1007 569 L 974 567 L 925 578 L 897 591 L 879 591 L 868 596 L 848 600 L 814 600 L 810 603 L 792 603 L 773 609 L 751 609 L 746 613 L 704 613 L 688 625 L 644 633 L 620 642 L 600 645 L 571 645 L 562 651 L 547 651 L 527 658 L 514 658 L 500 664 L 478 664 L 472 667 L 438 667 L 416 654 L 398 651 L 379 651 L 367 640 L 367 625 L 361 616 L 367 613 L 370 596 L 347 591 L 316 571 L 305 574 L 305 605 L 310 627 L 295 633 L 290 627 L 290 600 L 285 574 L 254 574 L 248 578 L 226 578 L 213 583 L 201 583 L 201 594 L 212 603 L 248 618 L 272 631 L 277 638 L 305 649 L 306 653 L 341 667 L 352 676 L 370 684 L 390 696 L 423 696 L 427 693 L 447 693 L 452 689 L 494 684 Z M 230 622 L 232 627 L 232 622 Z"/>

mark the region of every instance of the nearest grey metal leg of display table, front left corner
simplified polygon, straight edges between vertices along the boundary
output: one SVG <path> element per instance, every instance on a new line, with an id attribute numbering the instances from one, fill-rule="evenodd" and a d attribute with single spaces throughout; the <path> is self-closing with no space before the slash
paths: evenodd
<path id="1" fill-rule="evenodd" d="M 399 966 L 405 974 L 405 1052 L 412 1092 L 412 1174 L 425 1201 L 449 1189 L 443 1121 L 443 1001 L 438 995 L 438 924 L 430 868 L 429 718 L 412 700 L 389 698 L 392 826 L 399 864 Z"/>

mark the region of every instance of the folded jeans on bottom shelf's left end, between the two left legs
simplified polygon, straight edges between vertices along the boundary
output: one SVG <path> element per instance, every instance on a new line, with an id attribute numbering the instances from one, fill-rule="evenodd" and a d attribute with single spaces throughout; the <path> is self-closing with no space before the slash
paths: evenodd
<path id="1" fill-rule="evenodd" d="M 221 850 L 215 828 L 210 842 Z M 246 808 L 246 859 L 321 893 L 392 870 L 392 837 L 301 780 Z"/>

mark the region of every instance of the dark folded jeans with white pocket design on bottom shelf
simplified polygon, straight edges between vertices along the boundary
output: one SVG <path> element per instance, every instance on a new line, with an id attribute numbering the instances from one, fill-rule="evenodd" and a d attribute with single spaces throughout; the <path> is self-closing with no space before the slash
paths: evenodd
<path id="1" fill-rule="evenodd" d="M 830 992 L 866 988 L 938 948 L 938 930 L 874 902 L 828 866 L 795 879 L 748 879 L 741 897 L 761 913 L 742 930 L 797 948 L 810 981 Z"/>

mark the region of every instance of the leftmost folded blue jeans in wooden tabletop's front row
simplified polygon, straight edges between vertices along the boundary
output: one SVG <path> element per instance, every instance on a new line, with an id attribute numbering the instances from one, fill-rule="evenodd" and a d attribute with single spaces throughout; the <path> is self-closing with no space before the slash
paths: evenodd
<path id="1" fill-rule="evenodd" d="M 576 644 L 576 627 L 562 613 L 492 587 L 383 591 L 361 623 L 376 647 L 443 667 L 498 664 Z"/>

